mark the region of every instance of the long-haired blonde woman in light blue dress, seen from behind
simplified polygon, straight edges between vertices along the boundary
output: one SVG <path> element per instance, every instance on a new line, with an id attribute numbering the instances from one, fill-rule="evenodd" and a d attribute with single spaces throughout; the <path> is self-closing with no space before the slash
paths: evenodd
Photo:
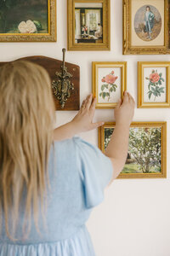
<path id="1" fill-rule="evenodd" d="M 88 96 L 70 123 L 53 130 L 48 73 L 27 61 L 0 69 L 1 256 L 94 255 L 85 223 L 122 171 L 134 110 L 126 92 L 102 154 L 73 137 L 103 124 L 93 123 L 95 102 Z"/>

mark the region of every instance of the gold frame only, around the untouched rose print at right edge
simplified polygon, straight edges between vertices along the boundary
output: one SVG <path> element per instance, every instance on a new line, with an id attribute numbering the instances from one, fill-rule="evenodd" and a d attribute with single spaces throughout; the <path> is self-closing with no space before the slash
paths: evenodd
<path id="1" fill-rule="evenodd" d="M 167 102 L 144 102 L 144 67 L 167 68 Z M 170 62 L 169 61 L 139 61 L 138 62 L 138 108 L 170 108 Z"/>

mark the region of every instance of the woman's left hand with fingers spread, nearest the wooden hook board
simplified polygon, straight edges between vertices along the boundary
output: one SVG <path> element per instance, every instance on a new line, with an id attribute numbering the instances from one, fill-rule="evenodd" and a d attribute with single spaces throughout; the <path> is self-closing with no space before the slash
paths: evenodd
<path id="1" fill-rule="evenodd" d="M 82 107 L 75 118 L 71 121 L 71 123 L 75 126 L 77 133 L 94 130 L 99 126 L 104 125 L 104 122 L 93 123 L 95 105 L 96 98 L 93 100 L 92 94 L 88 95 L 87 98 L 82 102 Z"/>

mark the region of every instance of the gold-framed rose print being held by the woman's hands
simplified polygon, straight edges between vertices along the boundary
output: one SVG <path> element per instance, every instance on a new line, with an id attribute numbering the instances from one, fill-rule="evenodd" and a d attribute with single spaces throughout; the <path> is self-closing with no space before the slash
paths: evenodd
<path id="1" fill-rule="evenodd" d="M 92 62 L 96 108 L 116 108 L 127 90 L 127 62 Z"/>

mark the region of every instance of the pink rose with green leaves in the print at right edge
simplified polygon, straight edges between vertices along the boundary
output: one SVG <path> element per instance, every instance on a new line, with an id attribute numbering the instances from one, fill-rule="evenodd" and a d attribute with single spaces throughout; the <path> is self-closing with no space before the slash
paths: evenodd
<path id="1" fill-rule="evenodd" d="M 154 101 L 156 101 L 156 97 L 161 96 L 161 94 L 165 93 L 164 87 L 161 86 L 162 82 L 165 80 L 162 78 L 162 73 L 158 73 L 157 70 L 153 69 L 152 73 L 150 73 L 149 78 L 145 78 L 149 80 L 148 84 L 148 97 L 149 100 L 151 96 L 154 96 Z"/>

